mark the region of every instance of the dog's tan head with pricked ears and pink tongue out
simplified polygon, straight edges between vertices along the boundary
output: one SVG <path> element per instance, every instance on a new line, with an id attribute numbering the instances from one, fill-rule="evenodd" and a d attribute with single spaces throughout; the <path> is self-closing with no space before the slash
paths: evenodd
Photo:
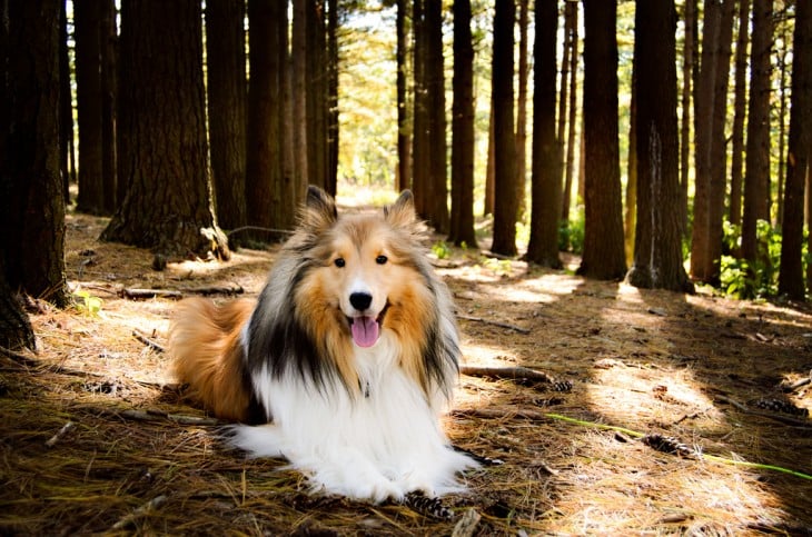
<path id="1" fill-rule="evenodd" d="M 315 261 L 300 287 L 304 311 L 327 315 L 358 347 L 374 346 L 387 329 L 406 336 L 405 330 L 419 328 L 404 326 L 406 318 L 422 322 L 432 292 L 422 274 L 425 227 L 408 190 L 379 212 L 339 218 L 335 200 L 310 187 L 303 229 Z"/>

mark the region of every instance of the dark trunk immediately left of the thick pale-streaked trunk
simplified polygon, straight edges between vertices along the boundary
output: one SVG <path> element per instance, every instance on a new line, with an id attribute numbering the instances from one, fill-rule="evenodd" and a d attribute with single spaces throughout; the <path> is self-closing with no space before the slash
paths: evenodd
<path id="1" fill-rule="evenodd" d="M 584 0 L 584 255 L 578 274 L 620 279 L 623 252 L 623 203 L 617 141 L 617 4 Z"/>

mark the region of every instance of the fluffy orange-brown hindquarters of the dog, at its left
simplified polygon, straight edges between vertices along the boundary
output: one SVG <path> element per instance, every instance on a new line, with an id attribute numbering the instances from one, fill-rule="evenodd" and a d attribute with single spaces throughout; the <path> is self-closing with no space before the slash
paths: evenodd
<path id="1" fill-rule="evenodd" d="M 190 298 L 178 306 L 169 331 L 175 375 L 218 418 L 248 421 L 251 386 L 245 372 L 240 332 L 250 319 L 254 302 L 235 300 L 217 306 Z"/>

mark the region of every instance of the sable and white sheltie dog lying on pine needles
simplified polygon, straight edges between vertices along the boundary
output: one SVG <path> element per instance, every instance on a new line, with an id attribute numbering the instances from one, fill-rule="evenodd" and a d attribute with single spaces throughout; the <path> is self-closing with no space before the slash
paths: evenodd
<path id="1" fill-rule="evenodd" d="M 424 232 L 409 191 L 382 212 L 339 216 L 310 187 L 256 305 L 180 304 L 175 372 L 240 422 L 232 446 L 285 457 L 315 490 L 356 499 L 463 488 L 457 473 L 476 464 L 439 424 L 459 341 Z"/>

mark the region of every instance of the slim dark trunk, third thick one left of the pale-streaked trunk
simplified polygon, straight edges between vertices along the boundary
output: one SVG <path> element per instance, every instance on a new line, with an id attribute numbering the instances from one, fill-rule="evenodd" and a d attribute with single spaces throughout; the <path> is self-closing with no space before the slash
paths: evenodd
<path id="1" fill-rule="evenodd" d="M 516 139 L 513 125 L 513 28 L 516 6 L 513 0 L 496 0 L 494 14 L 493 107 L 494 163 L 494 239 L 491 250 L 516 255 Z"/>

